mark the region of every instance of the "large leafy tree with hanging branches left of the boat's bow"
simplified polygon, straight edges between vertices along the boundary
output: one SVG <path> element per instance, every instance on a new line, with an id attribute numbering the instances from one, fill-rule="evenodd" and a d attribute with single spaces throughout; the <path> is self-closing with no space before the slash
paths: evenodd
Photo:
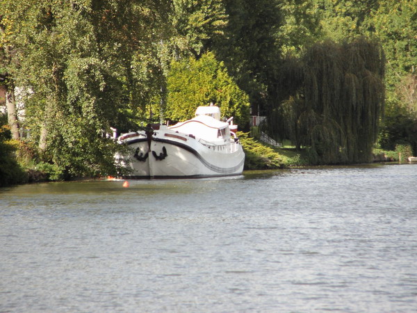
<path id="1" fill-rule="evenodd" d="M 31 90 L 31 140 L 68 177 L 116 172 L 119 146 L 105 134 L 128 124 L 126 111 L 137 108 L 134 60 L 153 40 L 157 2 L 165 1 L 8 2 L 18 51 L 13 78 Z"/>

